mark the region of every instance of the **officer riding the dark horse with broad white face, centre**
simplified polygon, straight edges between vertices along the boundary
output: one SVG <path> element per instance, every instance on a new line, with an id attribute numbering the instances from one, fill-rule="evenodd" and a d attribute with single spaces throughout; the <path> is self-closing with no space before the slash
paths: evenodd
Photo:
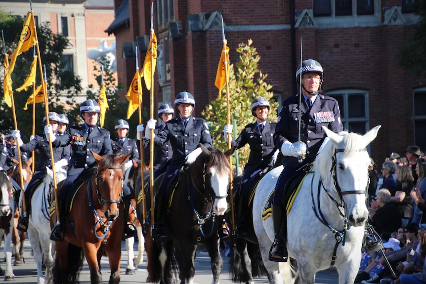
<path id="1" fill-rule="evenodd" d="M 184 163 L 195 161 L 202 150 L 199 143 L 207 148 L 213 146 L 209 127 L 204 119 L 192 117 L 195 107 L 194 96 L 189 92 L 180 92 L 174 99 L 174 107 L 179 117 L 166 123 L 166 127 L 158 134 L 151 137 L 151 129 L 155 129 L 156 120 L 149 120 L 145 130 L 145 137 L 154 140 L 154 143 L 163 146 L 170 141 L 173 156 L 167 166 L 166 173 L 161 182 L 159 192 L 155 198 L 155 225 L 153 236 L 157 240 L 167 240 L 169 236 L 164 232 L 164 211 L 166 206 L 167 186 L 170 179 L 176 174 Z M 143 131 L 143 125 L 138 125 L 137 132 Z M 139 134 L 138 134 L 139 135 Z"/>

